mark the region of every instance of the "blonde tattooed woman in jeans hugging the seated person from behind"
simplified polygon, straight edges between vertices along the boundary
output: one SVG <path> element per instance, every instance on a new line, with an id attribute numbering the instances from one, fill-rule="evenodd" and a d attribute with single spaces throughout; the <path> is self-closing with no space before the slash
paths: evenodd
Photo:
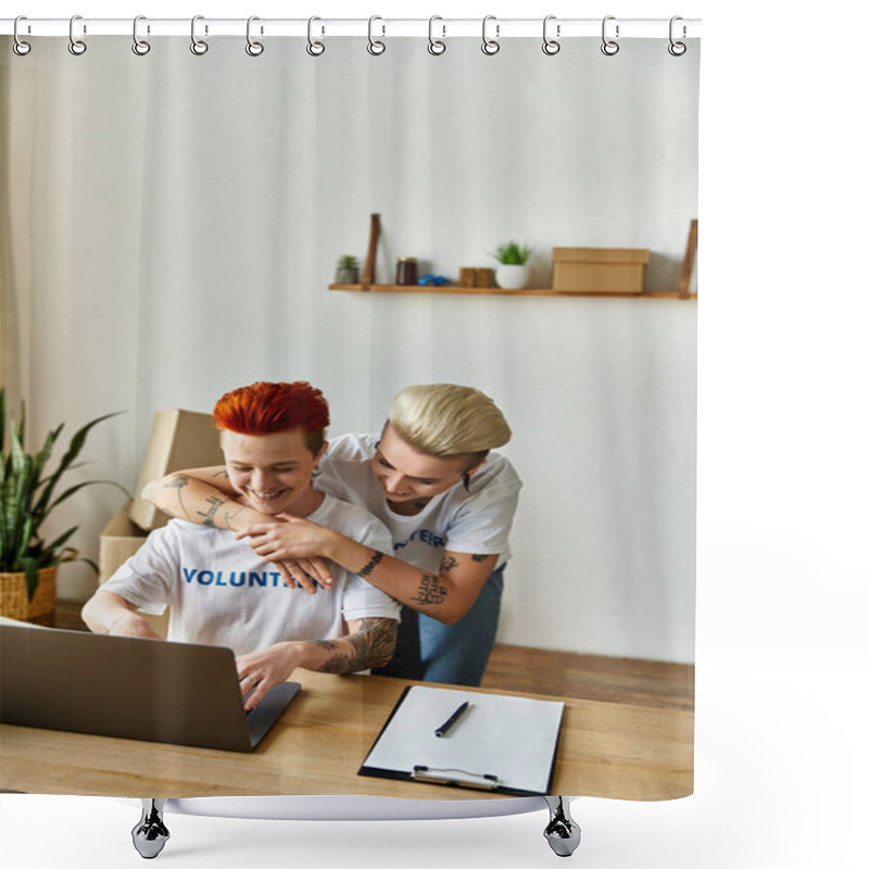
<path id="1" fill-rule="evenodd" d="M 399 392 L 380 434 L 333 439 L 315 488 L 383 521 L 392 554 L 307 519 L 268 515 L 270 500 L 281 495 L 277 478 L 264 480 L 262 491 L 248 499 L 259 499 L 263 512 L 232 499 L 225 468 L 178 471 L 149 484 L 144 495 L 174 516 L 236 531 L 277 564 L 290 584 L 328 593 L 328 571 L 318 561 L 305 561 L 312 558 L 364 577 L 404 605 L 399 651 L 386 672 L 478 685 L 494 643 L 521 488 L 511 463 L 490 452 L 509 438 L 488 395 L 433 383 Z M 299 569 L 300 561 L 317 582 Z M 317 592 L 317 585 L 326 591 Z"/>

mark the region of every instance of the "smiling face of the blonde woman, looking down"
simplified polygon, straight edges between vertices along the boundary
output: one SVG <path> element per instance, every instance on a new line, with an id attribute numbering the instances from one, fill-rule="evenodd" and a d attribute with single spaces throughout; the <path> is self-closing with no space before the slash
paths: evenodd
<path id="1" fill-rule="evenodd" d="M 420 453 L 387 425 L 371 457 L 371 470 L 387 501 L 402 504 L 427 501 L 455 486 L 465 474 L 476 474 L 482 463 L 469 468 L 473 461 L 471 454 L 433 456 Z"/>

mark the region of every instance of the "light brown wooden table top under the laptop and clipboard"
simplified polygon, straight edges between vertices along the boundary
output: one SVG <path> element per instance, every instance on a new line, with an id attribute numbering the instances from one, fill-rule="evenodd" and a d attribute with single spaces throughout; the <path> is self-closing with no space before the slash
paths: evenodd
<path id="1" fill-rule="evenodd" d="M 306 670 L 297 670 L 293 679 L 302 683 L 302 692 L 250 754 L 3 725 L 0 789 L 129 797 L 365 794 L 499 798 L 482 791 L 356 774 L 402 690 L 413 683 Z M 671 799 L 692 792 L 691 713 L 564 702 L 554 794 Z"/>

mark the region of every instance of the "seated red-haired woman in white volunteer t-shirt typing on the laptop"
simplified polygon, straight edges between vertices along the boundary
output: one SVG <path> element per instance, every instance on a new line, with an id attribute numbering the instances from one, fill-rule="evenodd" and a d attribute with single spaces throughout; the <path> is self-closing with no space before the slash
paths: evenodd
<path id="1" fill-rule="evenodd" d="M 390 547 L 389 531 L 367 511 L 311 486 L 329 423 L 319 390 L 253 383 L 224 395 L 214 419 L 238 509 L 316 524 L 376 551 Z M 169 640 L 236 653 L 248 708 L 297 667 L 355 672 L 390 660 L 399 617 L 391 597 L 342 568 L 329 594 L 292 591 L 269 559 L 215 527 L 213 507 L 200 525 L 172 521 L 149 534 L 85 605 L 88 627 L 159 639 L 137 610 L 168 605 Z"/>

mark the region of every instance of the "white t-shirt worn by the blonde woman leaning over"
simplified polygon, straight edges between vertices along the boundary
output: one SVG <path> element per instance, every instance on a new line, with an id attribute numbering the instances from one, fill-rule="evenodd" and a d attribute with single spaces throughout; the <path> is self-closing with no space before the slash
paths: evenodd
<path id="1" fill-rule="evenodd" d="M 500 567 L 509 557 L 509 529 L 519 502 L 521 480 L 499 453 L 470 478 L 434 495 L 415 516 L 389 508 L 370 468 L 379 434 L 341 434 L 329 441 L 314 487 L 358 504 L 392 533 L 396 557 L 431 572 L 440 571 L 444 550 L 480 555 L 499 554 Z"/>

